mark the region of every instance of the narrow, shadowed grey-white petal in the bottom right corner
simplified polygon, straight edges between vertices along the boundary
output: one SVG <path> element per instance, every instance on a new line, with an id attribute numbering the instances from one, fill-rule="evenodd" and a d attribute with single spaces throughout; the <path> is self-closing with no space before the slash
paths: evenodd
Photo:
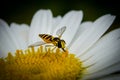
<path id="1" fill-rule="evenodd" d="M 120 71 L 120 63 L 114 64 L 110 67 L 107 67 L 103 70 L 100 70 L 100 71 L 92 73 L 92 74 L 86 74 L 84 76 L 84 79 L 86 80 L 86 79 L 99 78 L 99 77 L 109 75 L 111 73 L 118 72 L 118 71 Z"/>

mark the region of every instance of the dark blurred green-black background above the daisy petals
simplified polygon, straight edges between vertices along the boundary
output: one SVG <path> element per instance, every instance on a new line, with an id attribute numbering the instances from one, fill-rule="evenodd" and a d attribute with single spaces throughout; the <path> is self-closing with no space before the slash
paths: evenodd
<path id="1" fill-rule="evenodd" d="M 70 10 L 83 10 L 83 21 L 94 21 L 104 14 L 113 14 L 117 18 L 112 28 L 120 27 L 120 9 L 117 0 L 4 0 L 0 2 L 0 18 L 8 24 L 30 24 L 34 13 L 39 9 L 51 9 L 53 16 L 64 15 Z"/>

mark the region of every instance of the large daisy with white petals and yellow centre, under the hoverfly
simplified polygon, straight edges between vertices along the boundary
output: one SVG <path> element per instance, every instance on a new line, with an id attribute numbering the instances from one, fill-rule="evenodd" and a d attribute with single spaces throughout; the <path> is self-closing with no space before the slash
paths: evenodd
<path id="1" fill-rule="evenodd" d="M 111 14 L 94 22 L 81 22 L 82 11 L 53 17 L 50 10 L 39 10 L 30 26 L 0 20 L 0 80 L 93 80 L 120 79 L 107 76 L 120 70 L 120 28 L 105 33 L 115 20 Z M 66 51 L 29 45 L 43 41 L 39 34 L 57 36 Z M 102 78 L 104 77 L 104 78 Z"/>

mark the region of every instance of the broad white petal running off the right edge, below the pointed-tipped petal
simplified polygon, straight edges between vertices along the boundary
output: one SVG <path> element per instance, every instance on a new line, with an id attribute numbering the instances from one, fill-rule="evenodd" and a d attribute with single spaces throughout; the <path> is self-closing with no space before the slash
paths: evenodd
<path id="1" fill-rule="evenodd" d="M 81 60 L 86 60 L 84 66 L 89 73 L 94 73 L 120 61 L 120 29 L 116 29 L 101 38 Z M 88 59 L 89 58 L 89 59 Z M 87 60 L 88 59 L 88 60 Z"/>

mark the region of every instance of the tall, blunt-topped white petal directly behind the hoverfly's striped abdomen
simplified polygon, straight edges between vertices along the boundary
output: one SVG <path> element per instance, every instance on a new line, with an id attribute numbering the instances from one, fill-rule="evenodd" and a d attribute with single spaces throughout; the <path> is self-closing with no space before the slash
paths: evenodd
<path id="1" fill-rule="evenodd" d="M 38 34 L 49 34 L 52 30 L 52 13 L 50 10 L 38 11 L 32 19 L 29 35 L 29 44 L 40 41 Z"/>

